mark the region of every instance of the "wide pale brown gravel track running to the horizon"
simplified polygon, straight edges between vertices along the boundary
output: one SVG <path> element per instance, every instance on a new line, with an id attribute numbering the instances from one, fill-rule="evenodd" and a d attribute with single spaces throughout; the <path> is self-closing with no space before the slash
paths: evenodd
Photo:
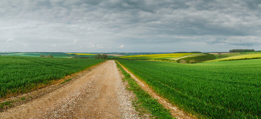
<path id="1" fill-rule="evenodd" d="M 84 71 L 63 86 L 0 113 L 0 119 L 137 119 L 134 95 L 114 60 Z M 48 87 L 46 87 L 48 88 Z"/>

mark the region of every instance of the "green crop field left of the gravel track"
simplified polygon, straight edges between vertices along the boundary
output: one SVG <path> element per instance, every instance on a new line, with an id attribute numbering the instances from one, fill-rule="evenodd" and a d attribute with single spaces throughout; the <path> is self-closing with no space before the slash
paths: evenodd
<path id="1" fill-rule="evenodd" d="M 0 98 L 48 85 L 102 61 L 0 56 Z"/>

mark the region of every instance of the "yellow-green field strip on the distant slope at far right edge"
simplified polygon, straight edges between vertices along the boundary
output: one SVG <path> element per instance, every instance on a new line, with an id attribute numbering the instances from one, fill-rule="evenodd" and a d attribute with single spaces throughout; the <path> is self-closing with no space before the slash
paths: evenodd
<path id="1" fill-rule="evenodd" d="M 220 61 L 220 60 L 232 60 L 232 59 L 245 59 L 245 58 L 261 58 L 261 54 L 250 54 L 250 55 L 241 55 L 241 56 L 234 56 L 234 57 L 228 57 L 223 59 L 216 59 L 216 60 L 208 60 L 205 62 L 212 62 L 212 61 Z"/>

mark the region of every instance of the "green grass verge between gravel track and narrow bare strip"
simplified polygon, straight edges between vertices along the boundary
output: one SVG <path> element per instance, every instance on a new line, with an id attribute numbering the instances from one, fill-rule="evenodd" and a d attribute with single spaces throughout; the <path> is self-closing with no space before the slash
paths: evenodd
<path id="1" fill-rule="evenodd" d="M 150 114 L 156 119 L 173 119 L 167 109 L 165 109 L 161 104 L 157 102 L 156 99 L 152 98 L 147 92 L 145 92 L 134 79 L 131 78 L 130 74 L 127 73 L 122 66 L 118 63 L 117 66 L 121 69 L 124 74 L 124 81 L 128 81 L 130 90 L 136 95 L 137 99 L 134 102 L 136 110 L 141 107 L 148 110 Z M 141 109 L 142 110 L 142 109 Z"/>

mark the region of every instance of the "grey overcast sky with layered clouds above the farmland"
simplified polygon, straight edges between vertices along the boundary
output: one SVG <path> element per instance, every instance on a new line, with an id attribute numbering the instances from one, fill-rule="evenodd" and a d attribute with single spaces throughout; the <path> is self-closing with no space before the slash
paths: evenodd
<path id="1" fill-rule="evenodd" d="M 0 0 L 0 52 L 261 50 L 261 0 Z"/>

